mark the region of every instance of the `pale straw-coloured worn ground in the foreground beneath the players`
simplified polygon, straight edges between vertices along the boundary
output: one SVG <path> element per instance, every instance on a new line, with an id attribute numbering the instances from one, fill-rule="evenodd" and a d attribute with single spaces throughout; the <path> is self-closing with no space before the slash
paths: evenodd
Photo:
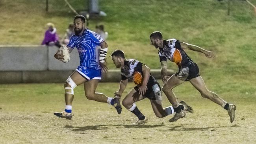
<path id="1" fill-rule="evenodd" d="M 79 105 L 72 120 L 58 118 L 53 109 L 40 112 L 13 111 L 4 105 L 0 109 L 1 144 L 252 144 L 256 142 L 256 116 L 253 107 L 237 105 L 236 119 L 229 122 L 226 111 L 214 105 L 199 107 L 177 122 L 172 116 L 157 118 L 150 103 L 139 103 L 148 123 L 133 126 L 134 115 L 123 109 L 118 115 L 105 103 L 89 101 Z M 44 107 L 40 105 L 40 107 Z M 82 108 L 83 107 L 83 108 Z M 81 109 L 80 109 L 81 108 Z"/>

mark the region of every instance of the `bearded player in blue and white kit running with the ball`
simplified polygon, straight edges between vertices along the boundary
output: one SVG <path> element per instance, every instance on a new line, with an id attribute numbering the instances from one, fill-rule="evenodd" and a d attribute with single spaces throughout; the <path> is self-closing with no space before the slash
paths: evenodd
<path id="1" fill-rule="evenodd" d="M 105 63 L 105 57 L 108 51 L 108 44 L 94 31 L 85 28 L 85 17 L 76 15 L 74 17 L 74 32 L 70 38 L 69 52 L 74 47 L 78 49 L 80 57 L 80 66 L 69 76 L 64 84 L 65 89 L 65 111 L 54 113 L 61 118 L 72 118 L 72 101 L 74 99 L 74 88 L 84 83 L 85 96 L 89 100 L 97 102 L 106 102 L 117 109 L 117 113 L 122 111 L 120 99 L 118 97 L 108 98 L 105 94 L 95 92 L 98 81 L 101 79 L 101 72 L 107 72 L 108 68 Z M 100 46 L 99 58 L 96 57 L 96 46 Z M 63 54 L 56 53 L 56 59 L 63 59 Z"/>

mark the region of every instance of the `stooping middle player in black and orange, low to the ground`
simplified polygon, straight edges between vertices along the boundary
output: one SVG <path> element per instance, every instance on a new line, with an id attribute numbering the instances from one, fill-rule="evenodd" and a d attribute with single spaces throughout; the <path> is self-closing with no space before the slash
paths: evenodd
<path id="1" fill-rule="evenodd" d="M 160 85 L 156 79 L 150 75 L 150 68 L 148 68 L 148 66 L 135 59 L 125 59 L 122 50 L 115 50 L 111 56 L 115 66 L 121 68 L 122 76 L 119 90 L 114 92 L 115 96 L 122 96 L 128 83 L 128 78 L 132 78 L 136 85 L 122 100 L 122 105 L 138 117 L 139 120 L 134 124 L 145 124 L 147 121 L 147 117 L 145 117 L 135 105 L 135 102 L 143 100 L 144 98 L 150 100 L 153 111 L 159 118 L 173 114 L 176 111 L 172 106 L 163 109 Z M 184 101 L 180 103 L 181 109 L 193 113 L 193 109 Z"/>

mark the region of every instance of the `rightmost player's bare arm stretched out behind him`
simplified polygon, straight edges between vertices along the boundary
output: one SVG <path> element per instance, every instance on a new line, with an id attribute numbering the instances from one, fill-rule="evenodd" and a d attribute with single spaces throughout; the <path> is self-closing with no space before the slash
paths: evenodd
<path id="1" fill-rule="evenodd" d="M 215 58 L 215 54 L 213 54 L 213 52 L 211 51 L 208 51 L 208 50 L 204 50 L 203 48 L 200 48 L 199 46 L 196 46 L 196 45 L 193 45 L 193 44 L 189 44 L 189 43 L 186 43 L 186 42 L 182 42 L 180 44 L 181 48 L 182 49 L 189 49 L 189 50 L 193 50 L 193 51 L 196 51 L 196 52 L 201 52 L 203 53 L 206 57 L 209 57 L 209 58 Z"/>

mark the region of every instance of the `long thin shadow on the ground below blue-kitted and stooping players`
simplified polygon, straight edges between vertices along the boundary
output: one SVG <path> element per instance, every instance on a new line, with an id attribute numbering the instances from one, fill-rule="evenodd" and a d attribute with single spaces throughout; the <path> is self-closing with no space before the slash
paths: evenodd
<path id="1" fill-rule="evenodd" d="M 110 127 L 116 126 L 117 129 L 123 129 L 123 128 L 154 128 L 154 127 L 161 127 L 165 126 L 164 124 L 156 124 L 156 125 L 98 125 L 98 126 L 84 126 L 84 127 L 73 127 L 66 125 L 64 128 L 72 129 L 73 131 L 86 131 L 86 130 L 102 130 L 102 129 L 108 129 Z"/>

